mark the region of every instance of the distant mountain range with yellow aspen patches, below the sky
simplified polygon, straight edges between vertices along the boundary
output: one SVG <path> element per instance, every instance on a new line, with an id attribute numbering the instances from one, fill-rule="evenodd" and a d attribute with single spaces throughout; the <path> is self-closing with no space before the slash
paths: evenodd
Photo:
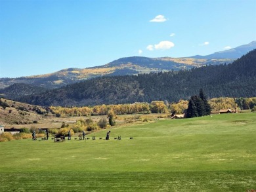
<path id="1" fill-rule="evenodd" d="M 89 67 L 85 69 L 69 68 L 56 71 L 55 73 L 34 75 L 18 78 L 0 78 L 0 88 L 7 88 L 15 83 L 40 86 L 43 88 L 59 88 L 79 81 L 92 79 L 95 77 L 116 76 L 116 75 L 137 75 L 141 73 L 158 73 L 160 71 L 179 71 L 182 69 L 192 69 L 207 65 L 229 64 L 256 48 L 256 41 L 247 45 L 215 52 L 207 56 L 192 56 L 189 58 L 147 58 L 147 57 L 127 57 L 114 60 L 108 64 Z M 3 92 L 0 91 L 0 92 Z"/>

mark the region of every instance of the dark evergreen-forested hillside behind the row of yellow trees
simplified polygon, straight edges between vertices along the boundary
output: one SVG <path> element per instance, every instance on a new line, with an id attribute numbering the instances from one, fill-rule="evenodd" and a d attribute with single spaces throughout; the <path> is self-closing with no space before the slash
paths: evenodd
<path id="1" fill-rule="evenodd" d="M 232 64 L 173 72 L 101 77 L 20 101 L 41 106 L 88 106 L 190 98 L 200 88 L 209 98 L 256 96 L 256 50 Z"/>

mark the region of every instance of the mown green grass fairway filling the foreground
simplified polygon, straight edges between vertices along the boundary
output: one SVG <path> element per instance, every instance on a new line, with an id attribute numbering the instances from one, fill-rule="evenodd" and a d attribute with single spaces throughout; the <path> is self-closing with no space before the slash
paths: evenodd
<path id="1" fill-rule="evenodd" d="M 256 113 L 117 127 L 99 140 L 107 131 L 0 143 L 0 191 L 256 190 Z"/>

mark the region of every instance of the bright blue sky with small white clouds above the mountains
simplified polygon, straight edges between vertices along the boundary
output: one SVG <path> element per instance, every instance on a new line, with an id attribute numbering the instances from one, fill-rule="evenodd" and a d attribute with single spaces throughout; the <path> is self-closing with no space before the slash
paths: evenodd
<path id="1" fill-rule="evenodd" d="M 256 40 L 255 0 L 0 0 L 0 77 L 182 57 Z"/>

